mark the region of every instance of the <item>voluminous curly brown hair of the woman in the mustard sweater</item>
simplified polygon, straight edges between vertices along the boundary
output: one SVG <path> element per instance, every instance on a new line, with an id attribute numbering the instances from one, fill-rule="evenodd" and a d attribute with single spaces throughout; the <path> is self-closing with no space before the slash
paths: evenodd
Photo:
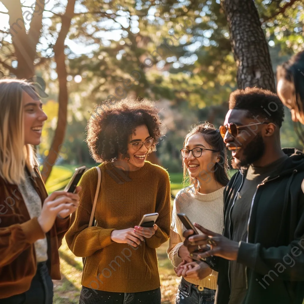
<path id="1" fill-rule="evenodd" d="M 147 99 L 124 99 L 112 103 L 109 100 L 96 105 L 88 120 L 87 139 L 90 154 L 96 162 L 113 162 L 119 153 L 128 160 L 128 138 L 136 127 L 146 125 L 154 142 L 148 153 L 156 151 L 161 137 L 159 110 Z"/>

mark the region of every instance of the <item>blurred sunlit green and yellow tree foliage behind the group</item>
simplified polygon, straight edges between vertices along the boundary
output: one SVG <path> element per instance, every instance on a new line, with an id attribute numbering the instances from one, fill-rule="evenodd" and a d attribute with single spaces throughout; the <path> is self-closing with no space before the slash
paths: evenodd
<path id="1" fill-rule="evenodd" d="M 255 0 L 269 43 L 273 69 L 303 48 L 303 4 L 295 0 Z M 36 74 L 48 84 L 44 109 L 49 120 L 39 153 L 46 156 L 57 123 L 57 80 L 53 45 L 65 3 L 43 13 Z M 2 36 L 1 36 L 2 35 Z M 0 60 L 12 64 L 13 48 L 0 33 Z M 166 129 L 157 156 L 171 172 L 181 172 L 179 149 L 191 125 L 208 120 L 223 123 L 227 100 L 236 88 L 236 64 L 220 1 L 97 0 L 77 1 L 66 43 L 87 46 L 79 54 L 66 47 L 68 70 L 68 126 L 65 163 L 91 163 L 85 143 L 88 111 L 103 100 L 129 96 L 151 98 L 162 110 Z M 48 41 L 48 43 L 45 43 Z M 0 65 L 4 75 L 9 75 Z M 54 74 L 55 73 L 55 74 Z M 81 82 L 73 77 L 81 75 Z M 282 127 L 282 145 L 299 146 L 290 115 Z M 62 161 L 62 160 L 61 160 Z"/>

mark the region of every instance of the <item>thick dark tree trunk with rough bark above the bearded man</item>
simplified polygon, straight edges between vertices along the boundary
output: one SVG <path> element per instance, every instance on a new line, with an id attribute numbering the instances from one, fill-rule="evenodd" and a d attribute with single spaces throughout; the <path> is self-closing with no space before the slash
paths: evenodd
<path id="1" fill-rule="evenodd" d="M 268 44 L 253 0 L 222 0 L 237 63 L 238 88 L 259 87 L 275 90 Z"/>

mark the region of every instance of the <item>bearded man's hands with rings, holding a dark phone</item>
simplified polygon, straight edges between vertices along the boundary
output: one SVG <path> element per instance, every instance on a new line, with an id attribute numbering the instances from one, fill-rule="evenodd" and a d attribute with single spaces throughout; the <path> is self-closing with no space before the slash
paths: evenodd
<path id="1" fill-rule="evenodd" d="M 193 230 L 186 230 L 183 233 L 185 237 L 184 245 L 188 248 L 192 259 L 201 260 L 210 256 L 218 256 L 230 261 L 237 260 L 239 252 L 239 244 L 237 242 L 229 240 L 221 234 L 207 230 L 197 223 L 194 226 L 202 234 L 193 235 Z M 201 252 L 202 250 L 199 249 L 207 251 Z"/>

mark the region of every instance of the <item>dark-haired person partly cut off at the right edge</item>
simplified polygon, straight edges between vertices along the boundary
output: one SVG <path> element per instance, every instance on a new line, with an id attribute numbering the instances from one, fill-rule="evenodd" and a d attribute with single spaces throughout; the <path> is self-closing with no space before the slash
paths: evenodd
<path id="1" fill-rule="evenodd" d="M 295 131 L 304 144 L 304 51 L 278 66 L 277 82 L 278 96 L 290 109 L 292 120 L 299 122 Z"/>

